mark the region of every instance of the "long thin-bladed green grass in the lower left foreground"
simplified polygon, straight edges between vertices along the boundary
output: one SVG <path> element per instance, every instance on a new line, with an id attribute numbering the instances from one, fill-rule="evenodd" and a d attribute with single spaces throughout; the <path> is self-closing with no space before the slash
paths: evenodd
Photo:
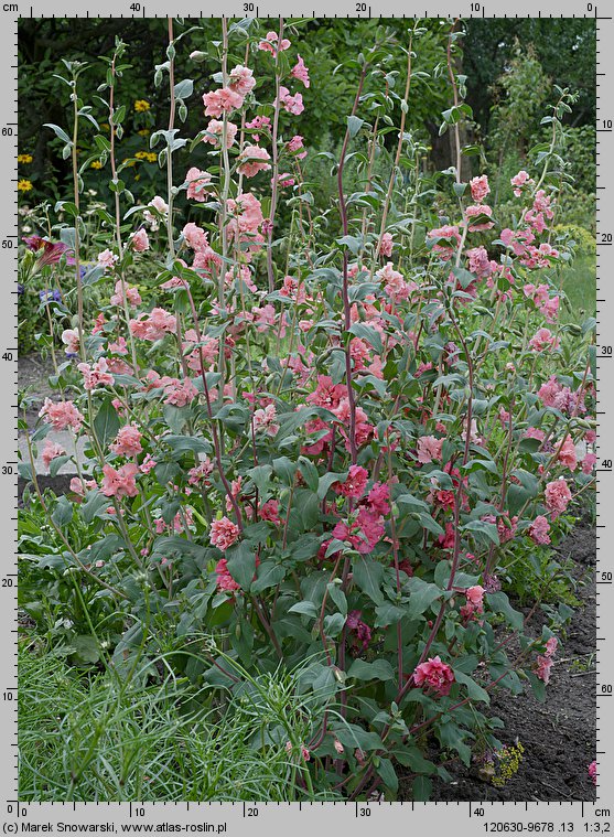
<path id="1" fill-rule="evenodd" d="M 314 722 L 300 673 L 246 683 L 226 709 L 169 678 L 126 687 L 52 654 L 20 652 L 21 801 L 297 801 L 317 794 L 286 742 Z M 138 680 L 138 678 L 137 678 Z M 302 764 L 302 762 L 301 762 Z"/>

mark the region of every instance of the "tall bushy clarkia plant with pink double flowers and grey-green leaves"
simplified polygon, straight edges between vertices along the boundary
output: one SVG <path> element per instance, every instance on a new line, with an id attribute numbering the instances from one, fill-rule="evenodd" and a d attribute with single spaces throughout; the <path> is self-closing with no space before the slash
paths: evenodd
<path id="1" fill-rule="evenodd" d="M 75 171 L 63 204 L 75 304 L 56 379 L 74 395 L 45 401 L 31 447 L 57 469 L 72 451 L 46 437 L 69 430 L 87 437 L 87 462 L 67 497 L 41 501 L 65 562 L 130 614 L 110 658 L 119 676 L 169 626 L 188 650 L 172 665 L 214 693 L 240 694 L 243 672 L 301 665 L 320 710 L 303 741 L 267 745 L 287 749 L 305 792 L 394 797 L 402 770 L 428 798 L 451 758 L 502 750 L 495 688 L 545 697 L 557 625 L 536 632 L 539 599 L 515 610 L 499 568 L 519 540 L 547 548 L 594 482 L 592 328 L 559 325 L 571 254 L 552 232 L 572 97 L 558 92 L 551 137 L 513 179 L 515 223 L 500 228 L 488 178 L 463 181 L 471 109 L 460 35 L 442 21 L 453 104 L 441 130 L 455 165 L 439 175 L 438 215 L 406 130 L 423 30 L 399 44 L 383 29 L 354 62 L 323 210 L 304 176 L 300 121 L 317 92 L 300 23 L 267 33 L 222 20 L 219 41 L 190 58 L 176 25 L 155 78 L 169 122 L 151 136 L 168 191 L 147 205 L 131 205 L 116 161 L 125 45 L 107 61 L 110 136 L 96 143 L 111 164 L 115 232 L 85 279 L 77 143 L 84 118 L 96 120 L 78 97 L 83 68 L 67 65 L 74 124 L 54 130 Z M 218 71 L 177 81 L 180 56 Z M 188 139 L 180 126 L 196 95 L 203 128 Z M 186 146 L 193 163 L 180 170 Z M 63 257 L 26 245 L 40 269 Z M 146 260 L 151 304 L 127 278 Z M 112 293 L 88 319 L 101 277 Z M 90 533 L 83 549 L 64 534 L 76 518 Z"/>

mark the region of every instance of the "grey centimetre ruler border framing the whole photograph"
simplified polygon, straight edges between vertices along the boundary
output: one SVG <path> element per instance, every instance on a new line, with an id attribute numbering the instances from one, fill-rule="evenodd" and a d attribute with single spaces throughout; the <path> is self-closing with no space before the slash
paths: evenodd
<path id="1" fill-rule="evenodd" d="M 612 8 L 585 0 L 559 0 L 557 3 L 517 0 L 507 6 L 500 0 L 445 0 L 432 8 L 423 4 L 380 0 L 373 6 L 356 0 L 327 0 L 302 8 L 298 0 L 256 3 L 226 0 L 223 6 L 196 8 L 198 3 L 163 0 L 147 3 L 130 0 L 39 0 L 36 4 L 0 3 L 0 44 L 2 46 L 2 86 L 0 96 L 0 176 L 4 201 L 0 206 L 0 257 L 3 268 L 0 305 L 0 374 L 4 406 L 0 448 L 0 514 L 3 534 L 10 548 L 2 558 L 0 572 L 0 654 L 2 676 L 0 698 L 0 822 L 4 834 L 21 833 L 166 833 L 228 834 L 249 831 L 256 835 L 282 834 L 289 829 L 313 834 L 314 828 L 335 833 L 352 829 L 354 835 L 371 834 L 374 828 L 429 828 L 451 834 L 548 833 L 606 834 L 614 831 L 614 582 L 610 560 L 610 502 L 614 502 L 614 24 Z M 18 801 L 17 730 L 17 399 L 18 399 L 18 288 L 17 253 L 19 215 L 17 201 L 18 151 L 18 21 L 19 18 L 165 18 L 169 13 L 186 18 L 228 18 L 246 14 L 259 18 L 591 18 L 596 20 L 596 130 L 597 130 L 597 694 L 596 733 L 599 786 L 596 802 L 429 802 L 429 803 L 23 803 Z M 9 200 L 7 195 L 11 195 Z M 608 341 L 612 341 L 608 344 Z M 613 437 L 610 437 L 613 431 Z M 604 441 L 601 441 L 604 440 Z M 613 533 L 614 534 L 614 533 Z M 585 770 L 579 764 L 579 771 Z M 613 807 L 608 807 L 612 805 Z M 89 828 L 88 828 L 89 827 Z"/>

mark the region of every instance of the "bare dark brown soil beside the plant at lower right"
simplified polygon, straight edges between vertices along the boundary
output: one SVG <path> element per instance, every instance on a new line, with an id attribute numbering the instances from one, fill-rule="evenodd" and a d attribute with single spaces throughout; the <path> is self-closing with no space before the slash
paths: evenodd
<path id="1" fill-rule="evenodd" d="M 552 667 L 547 701 L 540 704 L 530 690 L 516 698 L 502 690 L 491 704 L 491 713 L 505 723 L 504 743 L 519 741 L 525 748 L 518 773 L 504 787 L 494 787 L 480 779 L 477 770 L 467 770 L 455 762 L 450 768 L 452 782 L 437 782 L 432 798 L 446 802 L 595 798 L 595 787 L 586 773 L 596 749 L 594 526 L 581 518 L 558 551 L 561 559 L 570 558 L 574 564 L 572 575 L 580 582 L 577 597 L 581 607 L 573 614 L 567 635 L 561 636 L 560 659 Z M 535 623 L 538 621 L 539 614 Z"/>

